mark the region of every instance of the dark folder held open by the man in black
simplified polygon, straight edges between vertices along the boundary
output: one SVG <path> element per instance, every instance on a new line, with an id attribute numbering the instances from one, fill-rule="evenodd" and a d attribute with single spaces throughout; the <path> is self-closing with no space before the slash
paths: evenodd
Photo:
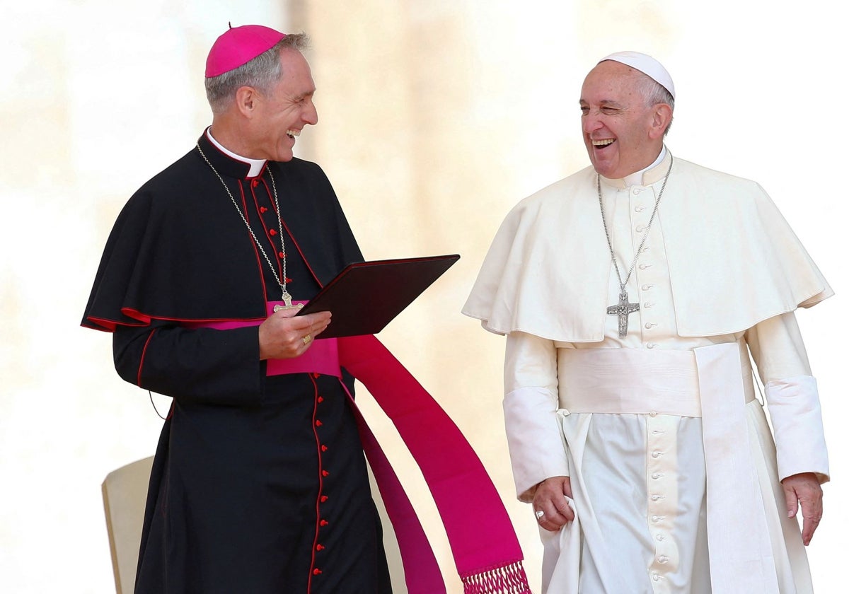
<path id="1" fill-rule="evenodd" d="M 349 264 L 297 315 L 330 311 L 322 339 L 379 333 L 459 259 L 453 254 Z"/>

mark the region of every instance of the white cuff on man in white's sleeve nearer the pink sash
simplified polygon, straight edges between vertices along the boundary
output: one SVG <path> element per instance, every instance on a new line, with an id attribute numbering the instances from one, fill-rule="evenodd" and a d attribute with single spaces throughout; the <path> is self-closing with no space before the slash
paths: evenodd
<path id="1" fill-rule="evenodd" d="M 530 502 L 540 482 L 569 476 L 557 423 L 558 399 L 545 388 L 519 388 L 504 396 L 503 406 L 516 495 Z"/>

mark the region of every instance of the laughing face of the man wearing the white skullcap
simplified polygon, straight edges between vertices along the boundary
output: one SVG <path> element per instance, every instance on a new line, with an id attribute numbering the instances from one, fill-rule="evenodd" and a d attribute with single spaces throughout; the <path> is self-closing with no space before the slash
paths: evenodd
<path id="1" fill-rule="evenodd" d="M 666 104 L 646 104 L 641 76 L 630 66 L 607 60 L 590 70 L 581 89 L 584 145 L 595 171 L 609 179 L 648 167 L 663 147 L 672 110 Z"/>

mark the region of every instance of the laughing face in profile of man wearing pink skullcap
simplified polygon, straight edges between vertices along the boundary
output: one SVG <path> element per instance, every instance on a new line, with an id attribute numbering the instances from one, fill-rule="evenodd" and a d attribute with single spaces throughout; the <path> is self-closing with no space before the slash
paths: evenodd
<path id="1" fill-rule="evenodd" d="M 312 103 L 316 86 L 306 59 L 295 49 L 280 52 L 282 76 L 267 92 L 256 90 L 250 115 L 252 159 L 289 161 L 295 137 L 307 124 L 318 123 Z"/>

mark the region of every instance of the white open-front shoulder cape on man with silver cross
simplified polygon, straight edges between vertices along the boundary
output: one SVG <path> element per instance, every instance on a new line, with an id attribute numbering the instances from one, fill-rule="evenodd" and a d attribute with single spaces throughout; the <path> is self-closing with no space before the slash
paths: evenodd
<path id="1" fill-rule="evenodd" d="M 662 179 L 669 160 L 647 171 L 644 185 Z M 681 336 L 741 332 L 834 294 L 756 182 L 676 159 L 655 225 L 663 228 Z M 629 265 L 620 263 L 623 277 Z M 596 173 L 588 167 L 510 211 L 463 313 L 494 333 L 598 342 L 609 275 Z"/>

